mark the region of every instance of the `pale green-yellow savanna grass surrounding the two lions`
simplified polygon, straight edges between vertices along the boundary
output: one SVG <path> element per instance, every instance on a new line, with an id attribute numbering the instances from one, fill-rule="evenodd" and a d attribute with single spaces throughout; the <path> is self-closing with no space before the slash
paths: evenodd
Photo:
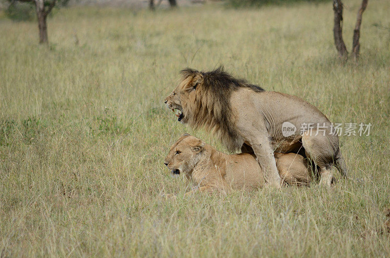
<path id="1" fill-rule="evenodd" d="M 359 3 L 346 2 L 349 50 Z M 369 2 L 357 66 L 336 59 L 331 2 L 72 7 L 49 18 L 48 48 L 35 21 L 0 15 L 0 256 L 389 257 L 389 13 Z M 163 99 L 182 68 L 219 64 L 332 122 L 371 123 L 340 137 L 354 180 L 183 199 L 170 145 L 190 132 L 225 149 Z"/>

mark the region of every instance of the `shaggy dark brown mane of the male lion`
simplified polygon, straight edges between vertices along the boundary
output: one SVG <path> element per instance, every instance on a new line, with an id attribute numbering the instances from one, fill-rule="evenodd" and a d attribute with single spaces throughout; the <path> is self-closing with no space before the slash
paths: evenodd
<path id="1" fill-rule="evenodd" d="M 242 88 L 248 88 L 254 92 L 264 90 L 242 78 L 234 77 L 219 66 L 210 72 L 198 72 L 191 68 L 183 69 L 183 79 L 189 76 L 201 75 L 203 83 L 196 89 L 196 100 L 191 109 L 192 113 L 189 123 L 195 128 L 213 130 L 219 136 L 221 142 L 230 150 L 235 151 L 243 144 L 243 138 L 235 128 L 234 114 L 232 111 L 230 97 L 232 92 Z"/>

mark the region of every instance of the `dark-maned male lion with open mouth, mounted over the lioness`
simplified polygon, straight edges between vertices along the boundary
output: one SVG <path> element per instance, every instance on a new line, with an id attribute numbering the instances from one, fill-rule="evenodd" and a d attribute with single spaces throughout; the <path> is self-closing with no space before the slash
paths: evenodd
<path id="1" fill-rule="evenodd" d="M 230 151 L 254 152 L 267 185 L 282 183 L 273 152 L 297 153 L 302 147 L 319 168 L 320 184 L 331 184 L 333 165 L 347 176 L 337 133 L 308 102 L 264 91 L 221 67 L 211 72 L 186 68 L 180 74 L 181 82 L 165 99 L 178 110 L 178 121 L 215 132 Z"/>

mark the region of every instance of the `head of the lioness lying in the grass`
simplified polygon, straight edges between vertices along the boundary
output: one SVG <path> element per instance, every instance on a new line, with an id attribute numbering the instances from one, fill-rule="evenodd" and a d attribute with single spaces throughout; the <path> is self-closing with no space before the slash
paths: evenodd
<path id="1" fill-rule="evenodd" d="M 164 164 L 173 175 L 191 174 L 201 158 L 204 146 L 204 141 L 185 133 L 172 145 Z"/>

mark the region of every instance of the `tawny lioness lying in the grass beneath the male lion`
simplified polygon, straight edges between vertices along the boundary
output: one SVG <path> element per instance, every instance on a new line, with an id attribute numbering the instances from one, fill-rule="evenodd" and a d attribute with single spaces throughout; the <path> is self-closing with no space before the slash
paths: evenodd
<path id="1" fill-rule="evenodd" d="M 275 153 L 275 159 L 279 175 L 285 183 L 307 185 L 311 182 L 311 170 L 301 155 Z M 193 181 L 198 186 L 194 191 L 251 190 L 261 188 L 265 184 L 253 154 L 228 155 L 188 133 L 172 145 L 164 164 L 172 174 L 184 173 L 187 179 Z"/>

